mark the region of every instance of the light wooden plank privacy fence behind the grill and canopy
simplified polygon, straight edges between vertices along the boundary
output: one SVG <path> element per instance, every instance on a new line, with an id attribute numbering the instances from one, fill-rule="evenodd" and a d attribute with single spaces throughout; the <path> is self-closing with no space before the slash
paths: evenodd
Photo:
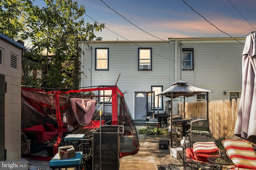
<path id="1" fill-rule="evenodd" d="M 236 125 L 236 117 L 238 113 L 240 99 L 232 100 L 212 100 L 209 101 L 209 131 L 214 139 L 220 137 L 233 135 Z M 178 104 L 179 115 L 186 118 L 205 118 L 207 119 L 207 102 L 185 102 L 185 114 L 184 103 Z"/>

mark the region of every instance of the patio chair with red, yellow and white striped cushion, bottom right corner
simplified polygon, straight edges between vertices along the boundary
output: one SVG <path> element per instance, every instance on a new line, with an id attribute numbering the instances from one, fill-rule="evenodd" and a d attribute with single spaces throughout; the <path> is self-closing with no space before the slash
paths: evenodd
<path id="1" fill-rule="evenodd" d="M 234 135 L 217 139 L 216 145 L 222 150 L 222 156 L 231 159 L 234 163 L 227 166 L 227 170 L 256 169 L 256 146 L 254 143 Z"/>

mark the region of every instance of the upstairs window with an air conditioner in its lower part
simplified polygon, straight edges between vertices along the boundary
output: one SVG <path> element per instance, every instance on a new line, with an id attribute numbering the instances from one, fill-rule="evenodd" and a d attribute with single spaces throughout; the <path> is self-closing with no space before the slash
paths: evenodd
<path id="1" fill-rule="evenodd" d="M 138 70 L 152 70 L 152 48 L 138 48 Z"/>

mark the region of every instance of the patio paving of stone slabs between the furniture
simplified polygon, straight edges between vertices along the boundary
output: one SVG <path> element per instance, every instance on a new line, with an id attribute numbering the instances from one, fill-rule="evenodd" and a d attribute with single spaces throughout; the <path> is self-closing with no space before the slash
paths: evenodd
<path id="1" fill-rule="evenodd" d="M 182 160 L 172 157 L 170 149 L 159 149 L 159 140 L 168 140 L 167 135 L 157 135 L 155 137 L 154 135 L 138 134 L 138 137 L 140 143 L 139 152 L 132 156 L 120 158 L 119 170 L 183 170 Z M 30 170 L 51 170 L 47 161 L 27 160 L 33 164 L 29 168 Z"/>

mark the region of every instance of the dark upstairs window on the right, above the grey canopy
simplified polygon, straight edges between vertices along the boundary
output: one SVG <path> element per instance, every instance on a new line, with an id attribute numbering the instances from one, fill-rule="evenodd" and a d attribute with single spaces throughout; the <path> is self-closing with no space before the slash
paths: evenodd
<path id="1" fill-rule="evenodd" d="M 194 70 L 193 48 L 182 48 L 182 70 Z"/>

